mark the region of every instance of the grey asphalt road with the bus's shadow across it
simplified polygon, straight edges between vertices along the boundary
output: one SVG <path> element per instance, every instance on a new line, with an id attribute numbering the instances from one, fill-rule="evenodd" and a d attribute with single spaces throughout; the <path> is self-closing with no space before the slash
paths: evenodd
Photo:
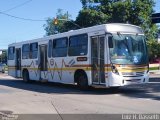
<path id="1" fill-rule="evenodd" d="M 160 113 L 160 77 L 145 85 L 79 90 L 73 85 L 24 83 L 0 74 L 0 113 L 126 114 Z"/>

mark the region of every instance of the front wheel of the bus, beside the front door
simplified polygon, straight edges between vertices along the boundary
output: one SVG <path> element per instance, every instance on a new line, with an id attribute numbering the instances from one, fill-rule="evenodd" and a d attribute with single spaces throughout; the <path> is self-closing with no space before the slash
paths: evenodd
<path id="1" fill-rule="evenodd" d="M 77 84 L 80 89 L 86 90 L 88 89 L 88 79 L 86 74 L 80 74 L 77 77 Z"/>

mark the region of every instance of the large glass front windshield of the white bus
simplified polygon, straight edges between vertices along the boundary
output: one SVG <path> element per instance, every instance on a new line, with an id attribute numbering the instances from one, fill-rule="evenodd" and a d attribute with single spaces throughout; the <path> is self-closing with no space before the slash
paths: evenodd
<path id="1" fill-rule="evenodd" d="M 113 64 L 147 64 L 148 55 L 143 35 L 113 34 L 110 58 Z"/>

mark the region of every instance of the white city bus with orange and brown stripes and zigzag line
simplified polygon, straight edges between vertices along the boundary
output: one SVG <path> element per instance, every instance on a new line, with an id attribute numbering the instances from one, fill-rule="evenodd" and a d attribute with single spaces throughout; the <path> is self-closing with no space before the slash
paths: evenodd
<path id="1" fill-rule="evenodd" d="M 142 29 L 103 24 L 10 44 L 8 74 L 24 81 L 119 87 L 147 83 Z"/>

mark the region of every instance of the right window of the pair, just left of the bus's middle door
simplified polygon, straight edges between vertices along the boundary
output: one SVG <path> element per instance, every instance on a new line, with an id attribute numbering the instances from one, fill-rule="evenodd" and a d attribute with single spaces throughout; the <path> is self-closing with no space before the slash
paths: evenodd
<path id="1" fill-rule="evenodd" d="M 38 54 L 38 43 L 31 43 L 30 44 L 30 58 L 36 59 Z"/>

